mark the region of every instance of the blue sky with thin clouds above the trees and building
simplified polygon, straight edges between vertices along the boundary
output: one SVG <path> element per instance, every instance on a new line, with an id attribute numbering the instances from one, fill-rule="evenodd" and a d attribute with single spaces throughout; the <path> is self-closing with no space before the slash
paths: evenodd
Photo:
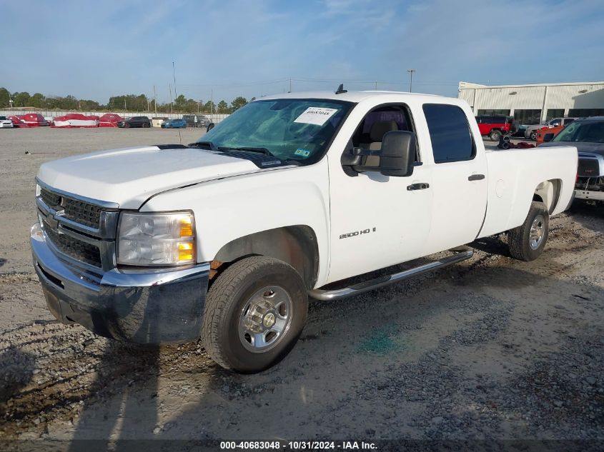
<path id="1" fill-rule="evenodd" d="M 457 96 L 604 79 L 604 1 L 121 0 L 2 3 L 0 86 L 107 103 L 335 89 Z"/>

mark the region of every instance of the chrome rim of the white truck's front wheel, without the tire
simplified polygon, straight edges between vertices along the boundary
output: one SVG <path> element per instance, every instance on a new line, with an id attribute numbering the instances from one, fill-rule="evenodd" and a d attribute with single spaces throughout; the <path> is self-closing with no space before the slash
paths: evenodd
<path id="1" fill-rule="evenodd" d="M 292 311 L 292 298 L 284 288 L 261 288 L 243 306 L 239 316 L 239 340 L 254 353 L 270 350 L 289 329 Z"/>

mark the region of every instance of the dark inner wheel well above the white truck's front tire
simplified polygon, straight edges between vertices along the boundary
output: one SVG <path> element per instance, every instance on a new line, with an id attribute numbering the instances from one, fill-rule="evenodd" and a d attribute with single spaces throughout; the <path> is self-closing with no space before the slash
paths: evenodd
<path id="1" fill-rule="evenodd" d="M 302 276 L 307 288 L 317 282 L 319 245 L 310 226 L 295 225 L 268 229 L 236 238 L 219 249 L 212 268 L 239 261 L 247 256 L 269 256 L 289 263 Z"/>

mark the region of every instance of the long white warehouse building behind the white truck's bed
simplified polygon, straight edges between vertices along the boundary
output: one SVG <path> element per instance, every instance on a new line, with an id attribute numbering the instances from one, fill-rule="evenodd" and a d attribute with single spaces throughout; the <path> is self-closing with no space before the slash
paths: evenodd
<path id="1" fill-rule="evenodd" d="M 460 81 L 458 93 L 457 97 L 472 106 L 475 116 L 514 116 L 519 124 L 604 116 L 604 81 L 497 86 Z"/>

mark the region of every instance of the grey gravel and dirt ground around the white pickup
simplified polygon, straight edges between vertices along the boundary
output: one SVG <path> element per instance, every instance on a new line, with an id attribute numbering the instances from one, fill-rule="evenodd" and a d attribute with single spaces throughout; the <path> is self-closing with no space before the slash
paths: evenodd
<path id="1" fill-rule="evenodd" d="M 29 255 L 39 165 L 201 134 L 1 131 L 0 438 L 604 439 L 604 209 L 593 204 L 552 219 L 537 261 L 488 238 L 457 266 L 312 301 L 294 351 L 257 375 L 224 371 L 196 343 L 138 347 L 56 323 Z"/>

